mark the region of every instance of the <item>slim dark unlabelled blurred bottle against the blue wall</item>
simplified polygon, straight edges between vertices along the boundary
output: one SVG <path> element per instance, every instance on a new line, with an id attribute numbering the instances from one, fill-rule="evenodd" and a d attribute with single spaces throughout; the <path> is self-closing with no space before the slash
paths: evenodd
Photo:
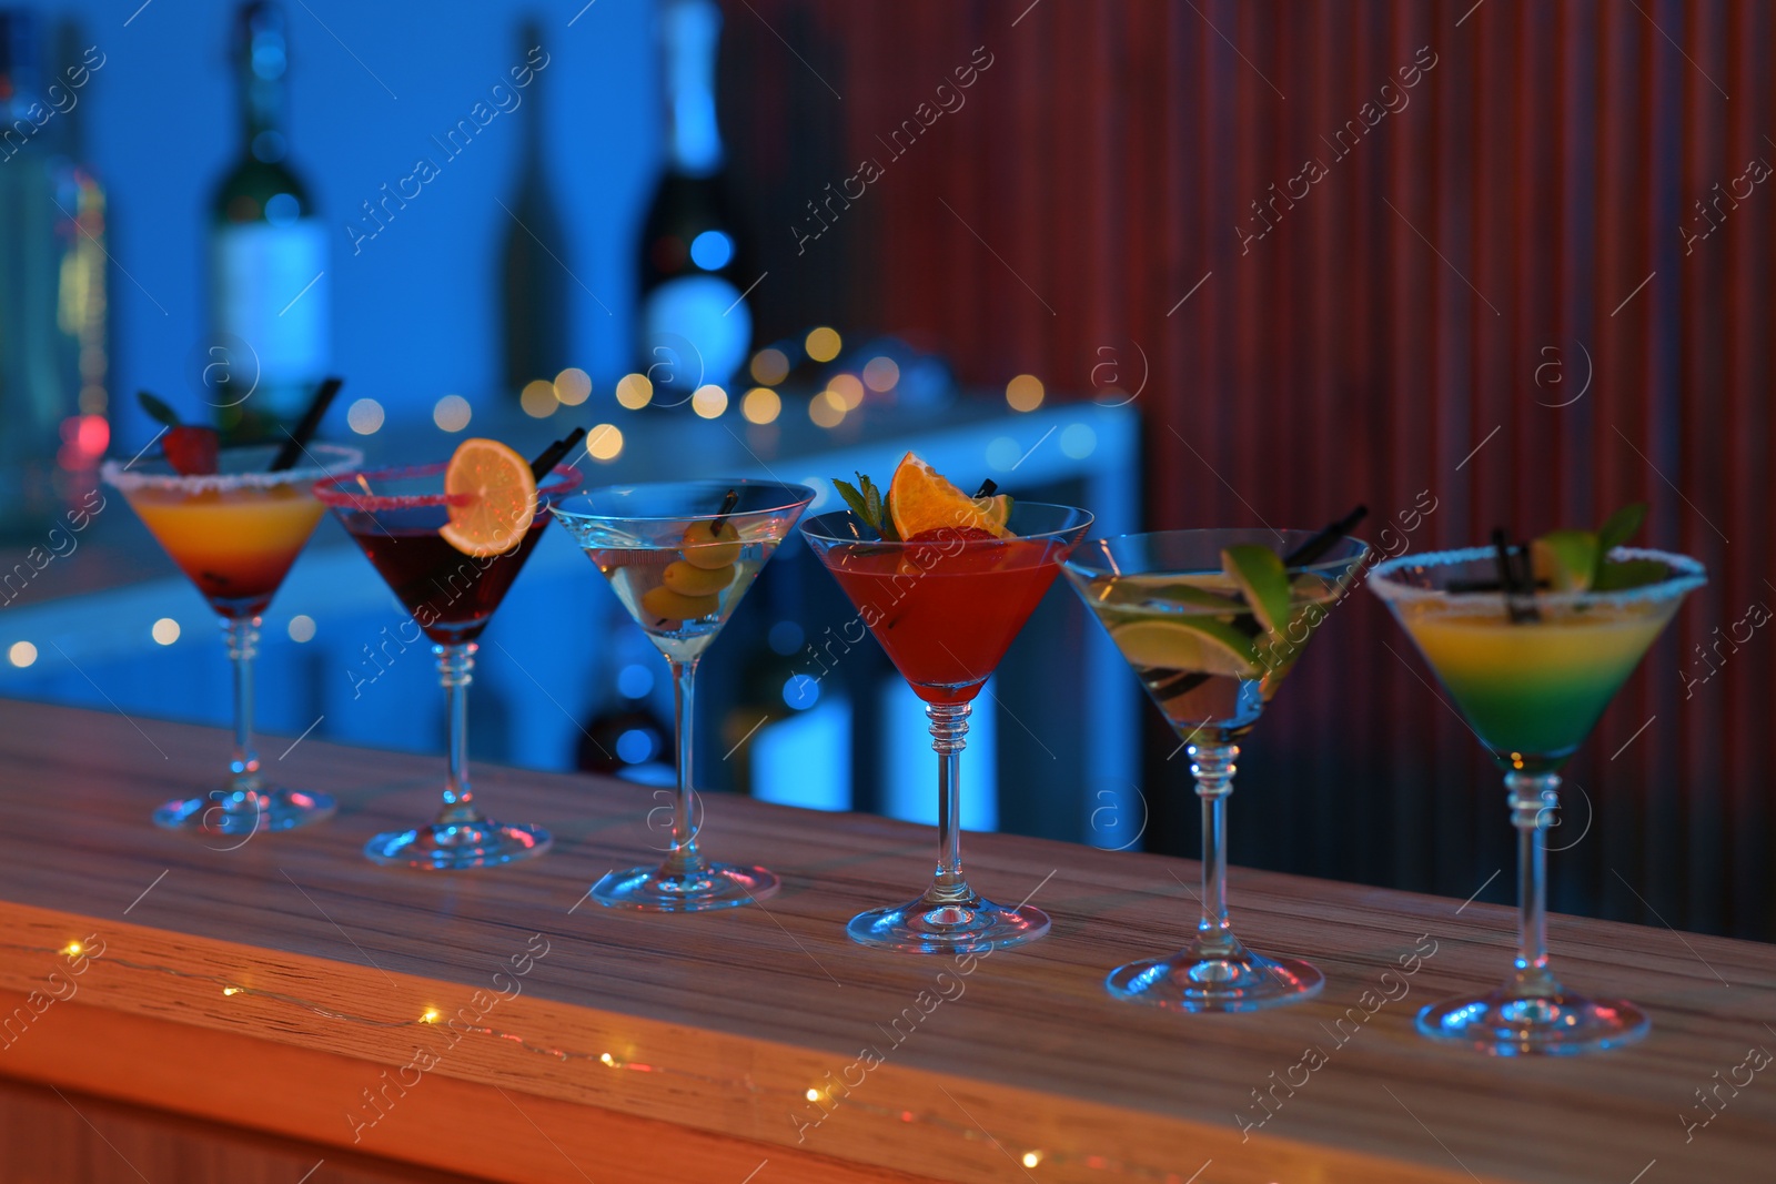
<path id="1" fill-rule="evenodd" d="M 520 37 L 520 53 L 535 53 L 542 44 L 542 34 L 533 23 L 524 25 Z M 510 199 L 513 217 L 506 218 L 504 375 L 506 391 L 511 394 L 538 378 L 545 382 L 554 378 L 568 364 L 568 275 L 556 259 L 565 254 L 565 234 L 543 176 L 543 110 L 538 103 L 542 89 L 538 78 L 529 91 L 513 91 L 515 96 L 522 96 L 517 101 L 526 103 L 529 110 L 519 115 L 524 124 L 524 149 L 519 185 Z"/>

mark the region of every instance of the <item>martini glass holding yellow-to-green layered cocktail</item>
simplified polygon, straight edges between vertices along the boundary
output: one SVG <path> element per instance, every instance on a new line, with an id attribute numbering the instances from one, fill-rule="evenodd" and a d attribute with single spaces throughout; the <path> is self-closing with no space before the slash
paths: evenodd
<path id="1" fill-rule="evenodd" d="M 1559 804 L 1556 770 L 1707 572 L 1659 550 L 1618 547 L 1609 557 L 1662 564 L 1664 579 L 1607 593 L 1515 596 L 1508 605 L 1492 547 L 1399 556 L 1369 579 L 1504 770 L 1517 827 L 1515 969 L 1497 991 L 1419 1012 L 1419 1031 L 1435 1040 L 1520 1056 L 1591 1053 L 1646 1035 L 1646 1015 L 1632 1003 L 1572 994 L 1549 969 L 1542 829 Z M 1476 584 L 1492 591 L 1463 591 Z"/>

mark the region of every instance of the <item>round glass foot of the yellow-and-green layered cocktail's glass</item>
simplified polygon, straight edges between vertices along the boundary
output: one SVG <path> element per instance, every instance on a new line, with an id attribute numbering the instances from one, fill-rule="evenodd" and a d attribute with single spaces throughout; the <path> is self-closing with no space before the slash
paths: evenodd
<path id="1" fill-rule="evenodd" d="M 1646 1014 L 1620 999 L 1575 994 L 1518 998 L 1494 991 L 1444 999 L 1419 1012 L 1419 1031 L 1444 1044 L 1465 1044 L 1492 1056 L 1570 1056 L 1634 1044 L 1646 1035 Z"/>

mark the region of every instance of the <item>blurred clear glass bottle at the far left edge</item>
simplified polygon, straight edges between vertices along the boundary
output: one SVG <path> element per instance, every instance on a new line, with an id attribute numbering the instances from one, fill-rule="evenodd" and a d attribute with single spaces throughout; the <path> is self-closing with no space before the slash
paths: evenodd
<path id="1" fill-rule="evenodd" d="M 52 76 L 34 12 L 0 9 L 0 531 L 41 529 L 110 442 L 105 190 L 75 108 L 105 66 Z"/>

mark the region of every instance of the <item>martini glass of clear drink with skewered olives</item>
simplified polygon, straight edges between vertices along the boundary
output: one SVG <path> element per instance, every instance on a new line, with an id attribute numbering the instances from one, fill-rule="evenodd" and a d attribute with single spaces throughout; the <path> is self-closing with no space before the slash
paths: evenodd
<path id="1" fill-rule="evenodd" d="M 671 847 L 659 864 L 611 872 L 593 884 L 599 904 L 702 912 L 776 893 L 771 872 L 714 863 L 696 845 L 693 683 L 703 651 L 810 501 L 813 490 L 805 485 L 661 481 L 588 490 L 554 508 L 671 667 L 677 714 Z"/>

